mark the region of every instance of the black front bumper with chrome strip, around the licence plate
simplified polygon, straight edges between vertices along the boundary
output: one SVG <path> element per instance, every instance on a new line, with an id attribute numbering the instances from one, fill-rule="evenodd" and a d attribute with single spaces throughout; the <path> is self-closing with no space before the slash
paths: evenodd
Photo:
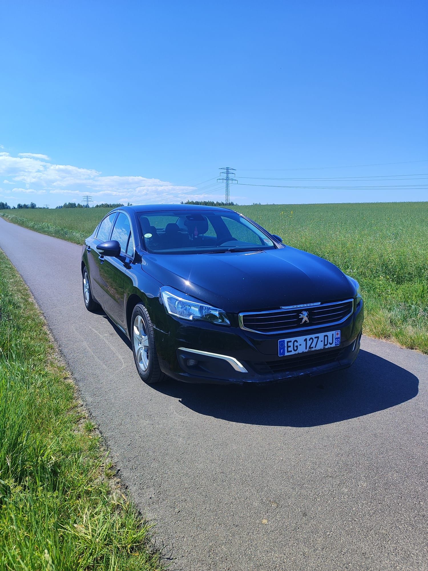
<path id="1" fill-rule="evenodd" d="M 286 357 L 278 357 L 278 339 L 296 337 L 296 332 L 266 336 L 243 331 L 237 323 L 232 327 L 202 321 L 195 325 L 166 313 L 163 323 L 155 326 L 155 342 L 160 368 L 173 379 L 187 383 L 265 384 L 350 367 L 360 350 L 363 320 L 361 301 L 344 323 L 326 325 L 326 331 L 341 330 L 338 347 Z M 305 329 L 305 335 L 310 333 L 309 328 Z"/>

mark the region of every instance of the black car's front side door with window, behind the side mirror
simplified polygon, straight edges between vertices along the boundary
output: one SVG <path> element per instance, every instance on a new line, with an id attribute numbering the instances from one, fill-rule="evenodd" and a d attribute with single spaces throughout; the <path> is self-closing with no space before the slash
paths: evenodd
<path id="1" fill-rule="evenodd" d="M 123 282 L 125 272 L 130 267 L 134 256 L 134 240 L 130 219 L 124 212 L 119 212 L 110 240 L 119 242 L 120 256 L 118 258 L 106 256 L 104 262 L 100 264 L 99 285 L 103 289 L 103 308 L 107 315 L 126 330 Z"/>

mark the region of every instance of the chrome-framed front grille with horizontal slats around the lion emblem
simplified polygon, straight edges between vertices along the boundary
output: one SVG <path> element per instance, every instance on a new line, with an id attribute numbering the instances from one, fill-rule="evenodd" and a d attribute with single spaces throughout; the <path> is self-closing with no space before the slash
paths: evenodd
<path id="1" fill-rule="evenodd" d="M 288 331 L 303 331 L 324 325 L 342 323 L 352 314 L 353 300 L 320 303 L 312 307 L 289 307 L 273 311 L 248 312 L 239 314 L 239 324 L 242 329 L 257 333 L 282 333 Z M 308 312 L 309 323 L 301 323 L 302 311 Z"/>

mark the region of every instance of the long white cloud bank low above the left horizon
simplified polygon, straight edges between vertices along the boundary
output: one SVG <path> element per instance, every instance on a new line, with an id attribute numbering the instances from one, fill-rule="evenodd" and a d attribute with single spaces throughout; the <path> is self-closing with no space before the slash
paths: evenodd
<path id="1" fill-rule="evenodd" d="M 48 163 L 46 155 L 33 153 L 11 156 L 0 152 L 1 174 L 7 176 L 5 183 L 21 183 L 19 192 L 75 197 L 90 194 L 94 202 L 180 202 L 203 196 L 196 196 L 195 187 L 177 186 L 144 176 L 102 175 L 90 168 Z M 209 195 L 209 198 L 213 197 Z"/>

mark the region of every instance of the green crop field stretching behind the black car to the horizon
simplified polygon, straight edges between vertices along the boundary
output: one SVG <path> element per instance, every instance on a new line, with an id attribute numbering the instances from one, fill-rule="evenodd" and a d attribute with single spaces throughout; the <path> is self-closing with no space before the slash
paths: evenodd
<path id="1" fill-rule="evenodd" d="M 356 278 L 365 333 L 428 353 L 428 203 L 239 206 L 286 244 L 322 256 Z M 7 210 L 5 218 L 83 243 L 104 208 Z"/>

